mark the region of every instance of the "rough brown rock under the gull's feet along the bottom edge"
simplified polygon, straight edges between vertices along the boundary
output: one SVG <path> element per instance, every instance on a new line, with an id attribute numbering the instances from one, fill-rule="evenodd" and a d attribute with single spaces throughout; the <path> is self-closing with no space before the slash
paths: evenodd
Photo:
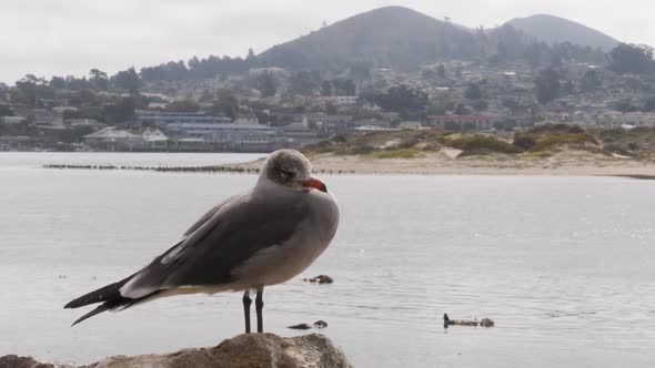
<path id="1" fill-rule="evenodd" d="M 59 368 L 32 358 L 0 357 L 0 368 Z M 243 334 L 212 348 L 183 349 L 171 354 L 114 356 L 88 368 L 337 368 L 353 366 L 343 351 L 323 335 L 280 337 L 273 334 Z"/>

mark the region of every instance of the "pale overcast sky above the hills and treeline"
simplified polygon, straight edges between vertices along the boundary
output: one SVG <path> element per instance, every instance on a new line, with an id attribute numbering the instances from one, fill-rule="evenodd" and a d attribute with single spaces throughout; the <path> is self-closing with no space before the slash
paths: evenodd
<path id="1" fill-rule="evenodd" d="M 0 81 L 109 73 L 193 55 L 261 52 L 359 12 L 403 6 L 468 27 L 548 13 L 655 45 L 653 0 L 0 0 Z M 400 24 L 393 24 L 400 27 Z"/>

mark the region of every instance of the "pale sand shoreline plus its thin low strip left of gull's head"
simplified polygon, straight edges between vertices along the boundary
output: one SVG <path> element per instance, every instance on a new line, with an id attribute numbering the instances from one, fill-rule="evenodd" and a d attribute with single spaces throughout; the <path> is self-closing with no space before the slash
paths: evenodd
<path id="1" fill-rule="evenodd" d="M 655 178 L 655 161 L 613 157 L 587 152 L 561 152 L 548 157 L 485 155 L 454 159 L 444 152 L 414 159 L 373 159 L 365 155 L 310 156 L 318 175 L 497 175 L 497 176 L 629 176 Z M 52 170 L 134 170 L 172 173 L 255 174 L 264 159 L 252 162 L 198 165 L 46 164 Z"/>

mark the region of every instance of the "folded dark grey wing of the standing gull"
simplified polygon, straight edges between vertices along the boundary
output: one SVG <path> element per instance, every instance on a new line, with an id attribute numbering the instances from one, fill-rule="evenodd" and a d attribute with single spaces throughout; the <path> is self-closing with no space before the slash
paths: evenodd
<path id="1" fill-rule="evenodd" d="M 180 243 L 157 257 L 120 289 L 140 298 L 180 286 L 225 285 L 233 270 L 256 252 L 282 245 L 308 216 L 302 194 L 253 196 L 228 201 L 201 217 Z M 298 196 L 298 197 L 296 197 Z"/>

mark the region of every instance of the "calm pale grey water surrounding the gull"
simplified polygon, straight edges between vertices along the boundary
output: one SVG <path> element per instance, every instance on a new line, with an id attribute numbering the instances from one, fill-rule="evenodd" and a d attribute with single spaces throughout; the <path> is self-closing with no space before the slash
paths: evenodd
<path id="1" fill-rule="evenodd" d="M 91 362 L 240 334 L 240 294 L 160 299 L 70 327 L 71 298 L 164 251 L 252 175 L 58 171 L 41 163 L 209 164 L 221 154 L 0 154 L 0 355 Z M 357 367 L 653 367 L 655 182 L 328 176 L 335 241 L 266 289 L 265 329 L 321 330 Z M 332 285 L 302 277 L 329 274 Z M 490 317 L 491 329 L 442 326 Z"/>

